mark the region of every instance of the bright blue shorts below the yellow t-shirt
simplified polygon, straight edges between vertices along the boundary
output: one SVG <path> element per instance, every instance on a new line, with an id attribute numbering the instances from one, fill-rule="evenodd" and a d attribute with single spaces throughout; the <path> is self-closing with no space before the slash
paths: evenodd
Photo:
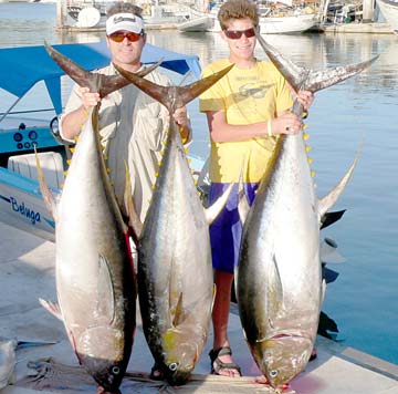
<path id="1" fill-rule="evenodd" d="M 210 205 L 222 195 L 230 184 L 212 183 L 210 186 Z M 243 184 L 244 194 L 250 206 L 253 204 L 259 183 Z M 233 186 L 231 195 L 220 215 L 210 226 L 212 266 L 214 270 L 233 273 L 238 266 L 242 226 L 238 212 L 238 187 Z"/>

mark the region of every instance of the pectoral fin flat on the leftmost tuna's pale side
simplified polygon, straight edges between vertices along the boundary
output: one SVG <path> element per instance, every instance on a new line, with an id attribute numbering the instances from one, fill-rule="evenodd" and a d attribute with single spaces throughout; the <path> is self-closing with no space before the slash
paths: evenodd
<path id="1" fill-rule="evenodd" d="M 109 263 L 102 255 L 98 257 L 98 282 L 96 299 L 100 301 L 96 305 L 97 315 L 106 317 L 108 322 L 112 322 L 115 318 L 114 289 L 112 286 Z"/>

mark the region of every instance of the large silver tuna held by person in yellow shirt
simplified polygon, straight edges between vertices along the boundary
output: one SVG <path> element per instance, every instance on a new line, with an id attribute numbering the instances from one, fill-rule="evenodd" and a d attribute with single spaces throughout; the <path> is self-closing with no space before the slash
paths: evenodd
<path id="1" fill-rule="evenodd" d="M 258 40 L 296 90 L 316 92 L 364 70 L 371 61 L 324 72 L 294 65 Z M 295 101 L 293 112 L 302 115 Z M 251 353 L 269 383 L 281 387 L 302 372 L 314 346 L 322 304 L 320 225 L 354 169 L 318 201 L 303 132 L 282 135 L 243 227 L 237 293 Z"/>

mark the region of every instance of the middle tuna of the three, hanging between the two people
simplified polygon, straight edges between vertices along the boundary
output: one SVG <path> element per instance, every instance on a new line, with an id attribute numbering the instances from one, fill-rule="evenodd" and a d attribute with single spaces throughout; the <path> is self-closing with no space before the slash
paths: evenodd
<path id="1" fill-rule="evenodd" d="M 159 86 L 118 69 L 170 113 L 164 157 L 138 243 L 143 328 L 154 359 L 171 384 L 189 377 L 207 342 L 213 301 L 209 222 L 193 184 L 176 108 L 193 100 L 230 68 L 189 86 Z"/>

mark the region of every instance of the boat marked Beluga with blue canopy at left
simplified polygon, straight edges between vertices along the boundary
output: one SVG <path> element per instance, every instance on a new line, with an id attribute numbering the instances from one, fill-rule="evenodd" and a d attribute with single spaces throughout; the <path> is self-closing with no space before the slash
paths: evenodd
<path id="1" fill-rule="evenodd" d="M 86 70 L 105 66 L 111 61 L 105 41 L 54 48 Z M 27 62 L 27 59 L 34 61 Z M 192 72 L 196 77 L 200 75 L 196 55 L 184 55 L 147 43 L 142 59 L 144 63 L 163 59 L 165 69 L 179 74 Z M 12 100 L 17 97 L 0 114 L 0 221 L 52 241 L 54 221 L 40 194 L 33 149 L 38 149 L 54 194 L 60 194 L 69 152 L 56 134 L 56 114 L 62 112 L 63 75 L 43 45 L 0 49 L 0 89 L 10 93 Z M 42 102 L 43 89 L 46 90 L 51 108 L 17 112 L 21 98 L 39 93 L 34 89 L 42 89 L 38 102 Z M 1 108 L 6 106 L 4 103 L 0 105 Z"/>

